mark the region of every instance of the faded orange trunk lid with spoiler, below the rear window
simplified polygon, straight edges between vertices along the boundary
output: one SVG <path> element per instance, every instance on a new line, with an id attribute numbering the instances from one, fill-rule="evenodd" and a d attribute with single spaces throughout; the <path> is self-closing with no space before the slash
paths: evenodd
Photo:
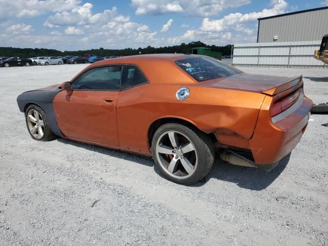
<path id="1" fill-rule="evenodd" d="M 250 91 L 275 95 L 303 81 L 303 76 L 282 77 L 260 74 L 240 73 L 227 78 L 217 78 L 200 82 L 202 87 Z"/>

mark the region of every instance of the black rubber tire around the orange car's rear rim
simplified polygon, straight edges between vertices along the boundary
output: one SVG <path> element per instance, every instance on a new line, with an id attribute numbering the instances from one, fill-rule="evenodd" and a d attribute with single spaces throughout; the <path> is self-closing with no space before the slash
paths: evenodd
<path id="1" fill-rule="evenodd" d="M 174 178 L 167 173 L 166 170 L 160 165 L 157 155 L 156 155 L 156 144 L 158 138 L 167 131 L 177 131 L 184 135 L 186 135 L 195 146 L 197 158 L 198 158 L 198 165 L 194 171 L 194 173 L 185 179 L 178 179 Z M 184 126 L 176 123 L 169 123 L 160 126 L 153 138 L 152 138 L 152 155 L 155 161 L 155 166 L 160 172 L 169 180 L 180 183 L 181 185 L 191 185 L 192 183 L 198 182 L 200 179 L 205 177 L 211 170 L 215 158 L 214 147 L 211 139 L 204 134 L 203 132 L 199 131 L 194 127 Z"/>

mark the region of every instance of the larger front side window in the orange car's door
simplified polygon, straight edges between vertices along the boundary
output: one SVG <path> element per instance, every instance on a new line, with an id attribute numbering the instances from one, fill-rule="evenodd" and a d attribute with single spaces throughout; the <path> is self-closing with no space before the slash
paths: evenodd
<path id="1" fill-rule="evenodd" d="M 122 66 L 90 69 L 73 82 L 73 90 L 119 90 Z"/>

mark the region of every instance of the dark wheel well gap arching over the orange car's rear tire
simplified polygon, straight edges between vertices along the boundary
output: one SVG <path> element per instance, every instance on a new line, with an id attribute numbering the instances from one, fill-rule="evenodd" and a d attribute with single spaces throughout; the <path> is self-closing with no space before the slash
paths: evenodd
<path id="1" fill-rule="evenodd" d="M 192 123 L 190 123 L 189 121 L 184 120 L 184 119 L 179 119 L 179 118 L 162 118 L 162 119 L 157 119 L 156 121 L 154 121 L 152 123 L 152 125 L 148 129 L 148 145 L 149 145 L 149 148 L 150 149 L 151 149 L 151 146 L 152 146 L 153 136 L 154 136 L 156 130 L 160 126 L 165 125 L 165 124 L 168 124 L 168 123 L 176 123 L 176 124 L 180 124 L 180 125 L 187 126 L 187 127 L 190 127 L 190 128 L 197 129 L 198 131 L 201 131 L 195 125 L 193 125 Z M 203 131 L 201 131 L 201 132 L 203 132 Z M 217 142 L 217 139 L 216 139 L 216 137 L 215 137 L 215 135 L 213 133 L 209 133 L 209 134 L 208 133 L 204 133 L 204 134 L 206 134 L 206 135 L 208 135 L 210 137 L 210 139 L 212 140 L 213 144 L 215 144 Z"/>

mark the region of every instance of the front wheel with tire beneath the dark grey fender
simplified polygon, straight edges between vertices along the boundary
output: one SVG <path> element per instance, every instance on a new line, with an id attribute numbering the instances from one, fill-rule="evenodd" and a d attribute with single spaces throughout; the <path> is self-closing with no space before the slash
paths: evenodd
<path id="1" fill-rule="evenodd" d="M 38 141 L 49 141 L 56 137 L 51 131 L 46 113 L 36 105 L 30 105 L 26 112 L 26 126 L 31 137 Z"/>

